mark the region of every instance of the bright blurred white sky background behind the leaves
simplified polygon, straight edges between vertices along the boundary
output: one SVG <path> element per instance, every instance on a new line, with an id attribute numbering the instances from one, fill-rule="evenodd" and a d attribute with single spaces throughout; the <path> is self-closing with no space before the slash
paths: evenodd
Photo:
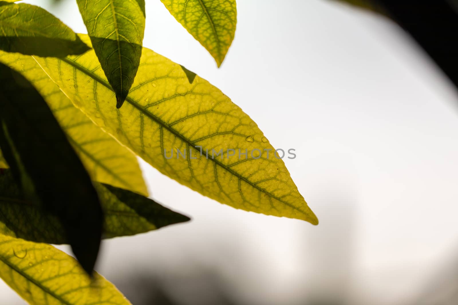
<path id="1" fill-rule="evenodd" d="M 87 32 L 76 1 L 26 2 Z M 159 0 L 146 2 L 144 46 L 221 89 L 274 147 L 296 149 L 284 161 L 320 225 L 230 208 L 145 163 L 153 198 L 193 220 L 104 241 L 98 271 L 115 284 L 154 274 L 175 298 L 207 289 L 193 281 L 203 265 L 250 304 L 303 304 L 343 284 L 353 304 L 414 301 L 458 253 L 458 97 L 435 66 L 371 13 L 239 0 L 217 69 Z M 0 295 L 23 304 L 3 282 Z"/>

